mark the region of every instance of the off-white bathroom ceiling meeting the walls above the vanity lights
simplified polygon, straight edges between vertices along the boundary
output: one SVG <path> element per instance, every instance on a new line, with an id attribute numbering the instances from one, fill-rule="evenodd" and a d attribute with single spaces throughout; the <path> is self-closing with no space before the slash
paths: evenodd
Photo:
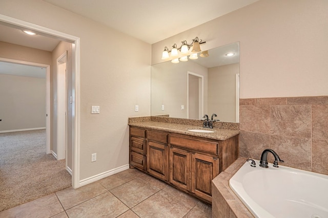
<path id="1" fill-rule="evenodd" d="M 153 44 L 258 0 L 44 0 Z"/>

